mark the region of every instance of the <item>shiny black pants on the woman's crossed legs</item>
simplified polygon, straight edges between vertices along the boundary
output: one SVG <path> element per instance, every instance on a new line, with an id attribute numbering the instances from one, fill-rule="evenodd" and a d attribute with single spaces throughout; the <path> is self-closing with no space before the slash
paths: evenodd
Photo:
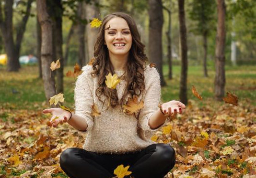
<path id="1" fill-rule="evenodd" d="M 113 178 L 123 164 L 132 173 L 125 178 L 163 178 L 175 165 L 175 150 L 169 144 L 152 144 L 126 154 L 99 154 L 68 148 L 60 155 L 60 167 L 70 178 Z"/>

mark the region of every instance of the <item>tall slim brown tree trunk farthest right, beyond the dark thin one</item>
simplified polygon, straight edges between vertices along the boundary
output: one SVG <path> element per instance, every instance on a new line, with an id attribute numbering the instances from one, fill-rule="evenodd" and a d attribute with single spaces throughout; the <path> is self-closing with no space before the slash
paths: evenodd
<path id="1" fill-rule="evenodd" d="M 215 48 L 215 81 L 214 92 L 215 99 L 221 101 L 224 96 L 224 87 L 226 83 L 225 79 L 225 13 L 226 6 L 224 0 L 217 0 L 218 8 L 218 27 L 216 36 L 216 48 Z"/>

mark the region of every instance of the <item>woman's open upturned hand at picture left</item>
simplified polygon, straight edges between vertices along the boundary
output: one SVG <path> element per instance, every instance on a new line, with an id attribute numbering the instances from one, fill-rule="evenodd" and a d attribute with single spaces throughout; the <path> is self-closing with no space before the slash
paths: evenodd
<path id="1" fill-rule="evenodd" d="M 62 125 L 64 122 L 68 122 L 68 120 L 70 119 L 70 116 L 71 116 L 69 111 L 66 111 L 66 110 L 58 108 L 58 107 L 44 109 L 43 113 L 44 114 L 47 114 L 47 113 L 52 114 L 52 117 L 50 120 L 50 126 L 53 126 L 53 127 L 57 127 L 58 124 Z M 54 118 L 56 118 L 56 117 L 58 117 L 58 119 L 54 120 Z"/>

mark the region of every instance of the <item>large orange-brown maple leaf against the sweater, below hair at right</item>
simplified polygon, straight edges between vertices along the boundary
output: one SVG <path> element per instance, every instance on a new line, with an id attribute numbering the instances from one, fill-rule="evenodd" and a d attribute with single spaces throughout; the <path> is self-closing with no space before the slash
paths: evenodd
<path id="1" fill-rule="evenodd" d="M 136 113 L 138 110 L 140 110 L 143 105 L 143 100 L 140 100 L 138 103 L 138 96 L 133 95 L 132 98 L 128 97 L 128 102 L 126 105 L 123 105 L 122 109 L 124 113 L 131 115 L 132 113 Z"/>

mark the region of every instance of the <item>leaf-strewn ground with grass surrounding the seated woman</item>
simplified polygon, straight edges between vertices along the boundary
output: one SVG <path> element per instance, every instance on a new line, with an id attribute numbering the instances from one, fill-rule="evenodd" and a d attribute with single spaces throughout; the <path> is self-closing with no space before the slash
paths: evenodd
<path id="1" fill-rule="evenodd" d="M 37 79 L 36 67 L 28 68 L 20 73 L 0 73 L 4 84 L 0 85 L 0 178 L 68 178 L 59 167 L 59 156 L 69 147 L 81 148 L 86 136 L 67 123 L 47 126 L 51 116 L 42 114 L 48 107 L 43 83 Z M 251 88 L 256 86 L 256 72 L 247 67 L 227 70 L 226 90 L 239 97 L 235 106 L 212 99 L 213 71 L 209 71 L 209 79 L 198 80 L 201 73 L 193 66 L 190 69 L 185 113 L 151 137 L 175 148 L 176 164 L 166 178 L 255 177 L 256 92 Z M 170 95 L 176 97 L 170 100 L 178 99 L 178 70 L 174 69 L 174 79 L 162 88 L 163 102 L 169 101 Z M 65 78 L 64 83 L 66 105 L 72 107 L 74 80 Z M 192 84 L 202 101 L 193 96 Z"/>

